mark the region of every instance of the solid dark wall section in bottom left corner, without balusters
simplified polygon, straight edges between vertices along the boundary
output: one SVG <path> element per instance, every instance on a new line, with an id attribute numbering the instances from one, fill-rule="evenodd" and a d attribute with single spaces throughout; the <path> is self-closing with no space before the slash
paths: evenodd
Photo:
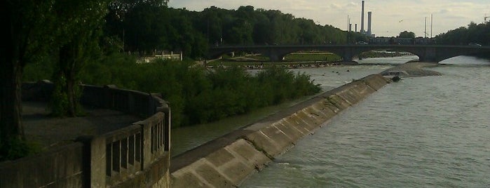
<path id="1" fill-rule="evenodd" d="M 0 187 L 87 187 L 83 144 L 76 142 L 0 164 Z"/>

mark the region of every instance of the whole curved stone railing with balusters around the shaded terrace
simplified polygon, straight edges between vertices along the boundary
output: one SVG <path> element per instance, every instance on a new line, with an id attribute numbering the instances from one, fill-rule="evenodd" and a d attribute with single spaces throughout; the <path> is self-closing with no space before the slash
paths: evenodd
<path id="1" fill-rule="evenodd" d="M 48 81 L 25 83 L 23 100 L 46 101 Z M 0 163 L 0 187 L 169 187 L 170 107 L 157 95 L 83 85 L 83 105 L 146 118 L 36 156 Z M 103 125 L 101 125 L 103 126 Z"/>

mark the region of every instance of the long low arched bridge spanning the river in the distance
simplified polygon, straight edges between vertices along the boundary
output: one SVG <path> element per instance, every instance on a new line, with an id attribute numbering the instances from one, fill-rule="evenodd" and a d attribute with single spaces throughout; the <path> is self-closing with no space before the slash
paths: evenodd
<path id="1" fill-rule="evenodd" d="M 459 55 L 490 52 L 490 46 L 443 46 L 443 45 L 394 45 L 394 44 L 365 44 L 365 45 L 268 45 L 268 46 L 215 46 L 210 48 L 209 58 L 218 58 L 225 53 L 251 52 L 261 53 L 271 61 L 283 60 L 285 55 L 297 51 L 328 51 L 342 57 L 344 62 L 351 62 L 360 53 L 391 49 L 417 55 L 420 61 L 440 62 Z"/>

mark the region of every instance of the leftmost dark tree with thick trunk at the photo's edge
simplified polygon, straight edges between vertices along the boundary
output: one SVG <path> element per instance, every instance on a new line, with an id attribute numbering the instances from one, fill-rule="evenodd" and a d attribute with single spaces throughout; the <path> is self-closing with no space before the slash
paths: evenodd
<path id="1" fill-rule="evenodd" d="M 7 0 L 0 3 L 0 158 L 12 142 L 25 140 L 22 127 L 22 70 L 55 43 L 54 1 Z"/>

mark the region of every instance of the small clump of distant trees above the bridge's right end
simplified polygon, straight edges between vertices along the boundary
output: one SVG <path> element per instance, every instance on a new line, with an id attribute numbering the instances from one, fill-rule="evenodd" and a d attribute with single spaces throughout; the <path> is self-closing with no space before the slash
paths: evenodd
<path id="1" fill-rule="evenodd" d="M 468 45 L 468 43 L 479 43 L 490 45 L 490 23 L 476 24 L 471 22 L 468 27 L 459 27 L 446 33 L 435 36 L 438 44 Z"/>

